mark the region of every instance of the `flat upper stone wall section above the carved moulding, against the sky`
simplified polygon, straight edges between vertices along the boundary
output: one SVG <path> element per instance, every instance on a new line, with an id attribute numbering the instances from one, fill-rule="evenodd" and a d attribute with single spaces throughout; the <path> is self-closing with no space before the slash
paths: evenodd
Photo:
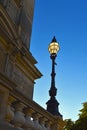
<path id="1" fill-rule="evenodd" d="M 16 25 L 19 38 L 24 46 L 30 48 L 32 22 L 34 13 L 34 0 L 0 0 L 8 15 Z"/>

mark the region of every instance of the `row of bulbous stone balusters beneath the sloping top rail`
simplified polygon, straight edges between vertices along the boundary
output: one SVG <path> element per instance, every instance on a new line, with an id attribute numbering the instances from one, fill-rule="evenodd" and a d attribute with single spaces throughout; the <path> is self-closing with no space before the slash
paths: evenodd
<path id="1" fill-rule="evenodd" d="M 45 112 L 45 110 L 44 110 Z M 44 114 L 9 96 L 5 120 L 20 130 L 50 130 L 50 122 Z"/>

